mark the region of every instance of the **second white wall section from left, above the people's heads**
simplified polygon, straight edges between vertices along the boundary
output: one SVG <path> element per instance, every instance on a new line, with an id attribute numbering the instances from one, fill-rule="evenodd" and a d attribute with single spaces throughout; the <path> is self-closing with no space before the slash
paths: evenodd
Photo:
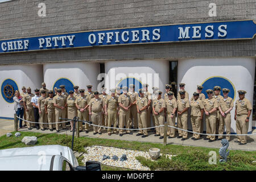
<path id="1" fill-rule="evenodd" d="M 97 89 L 97 76 L 100 74 L 100 65 L 98 63 L 49 63 L 43 66 L 44 82 L 49 90 L 59 78 L 68 78 L 79 89 L 85 89 L 86 85 L 93 85 L 92 90 Z"/>

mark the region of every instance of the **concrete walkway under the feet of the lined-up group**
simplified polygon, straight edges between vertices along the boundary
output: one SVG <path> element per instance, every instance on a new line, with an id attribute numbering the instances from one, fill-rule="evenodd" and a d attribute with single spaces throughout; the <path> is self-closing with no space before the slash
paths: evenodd
<path id="1" fill-rule="evenodd" d="M 69 127 L 70 129 L 70 127 Z M 13 120 L 7 120 L 7 119 L 0 119 L 0 136 L 5 135 L 6 133 L 14 131 L 14 121 Z M 68 134 L 72 135 L 72 132 L 69 130 L 60 130 L 59 133 L 56 132 L 56 130 L 49 131 L 49 130 L 28 130 L 27 128 L 24 128 L 19 131 L 31 131 L 31 132 L 37 132 L 37 133 L 56 133 L 56 134 Z M 102 130 L 102 134 L 96 134 L 93 135 L 93 131 L 90 130 L 89 133 L 85 133 L 85 131 L 80 132 L 80 137 L 90 137 L 90 138 L 105 138 L 105 139 L 122 139 L 122 140 L 129 140 L 129 141 L 137 141 L 137 142 L 151 142 L 151 143 L 163 143 L 163 139 L 159 139 L 159 137 L 154 137 L 153 132 L 148 133 L 148 137 L 141 138 L 141 136 L 137 137 L 136 134 L 138 131 L 133 131 L 133 135 L 124 134 L 122 137 L 119 137 L 117 134 L 108 135 L 107 130 Z M 256 133 L 256 130 L 253 131 L 253 133 Z M 204 135 L 205 136 L 205 135 Z M 208 142 L 208 140 L 203 140 L 201 137 L 200 140 L 192 140 L 192 134 L 188 134 L 188 139 L 181 141 L 179 138 L 167 138 L 167 144 L 178 144 L 181 146 L 196 146 L 196 147 L 210 147 L 210 148 L 220 148 L 221 141 L 216 140 L 214 142 Z M 245 145 L 239 145 L 238 143 L 234 142 L 236 141 L 236 137 L 232 136 L 230 137 L 229 142 L 229 150 L 245 150 L 245 151 L 256 151 L 256 135 L 251 135 L 247 137 L 247 144 Z"/>

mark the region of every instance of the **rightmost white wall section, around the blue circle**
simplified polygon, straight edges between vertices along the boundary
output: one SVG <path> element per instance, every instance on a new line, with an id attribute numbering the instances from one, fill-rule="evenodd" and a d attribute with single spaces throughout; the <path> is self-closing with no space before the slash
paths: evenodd
<path id="1" fill-rule="evenodd" d="M 189 99 L 192 93 L 196 91 L 196 85 L 201 85 L 205 79 L 212 76 L 222 76 L 233 82 L 236 89 L 236 98 L 238 100 L 237 90 L 246 90 L 245 97 L 253 104 L 255 59 L 253 58 L 217 58 L 217 59 L 183 59 L 178 61 L 177 81 L 184 82 L 185 90 L 189 93 Z M 213 88 L 211 88 L 213 89 Z M 234 121 L 234 108 L 232 114 L 232 133 L 236 133 L 236 121 Z M 249 132 L 252 126 L 252 115 L 250 117 Z M 205 130 L 204 130 L 205 131 Z"/>

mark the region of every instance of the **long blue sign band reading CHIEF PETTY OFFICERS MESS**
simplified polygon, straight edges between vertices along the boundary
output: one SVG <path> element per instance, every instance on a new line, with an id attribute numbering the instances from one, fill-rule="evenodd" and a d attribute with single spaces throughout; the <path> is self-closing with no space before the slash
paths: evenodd
<path id="1" fill-rule="evenodd" d="M 0 53 L 124 44 L 253 39 L 255 34 L 256 25 L 253 20 L 172 24 L 1 40 Z"/>

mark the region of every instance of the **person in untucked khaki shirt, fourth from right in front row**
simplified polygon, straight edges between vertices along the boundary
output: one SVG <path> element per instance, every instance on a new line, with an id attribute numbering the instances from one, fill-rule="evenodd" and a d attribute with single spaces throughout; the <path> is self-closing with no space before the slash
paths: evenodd
<path id="1" fill-rule="evenodd" d="M 200 133 L 201 122 L 203 122 L 204 103 L 199 99 L 199 93 L 193 93 L 191 101 L 191 124 L 193 132 Z M 193 133 L 193 140 L 200 139 L 200 134 Z"/>

